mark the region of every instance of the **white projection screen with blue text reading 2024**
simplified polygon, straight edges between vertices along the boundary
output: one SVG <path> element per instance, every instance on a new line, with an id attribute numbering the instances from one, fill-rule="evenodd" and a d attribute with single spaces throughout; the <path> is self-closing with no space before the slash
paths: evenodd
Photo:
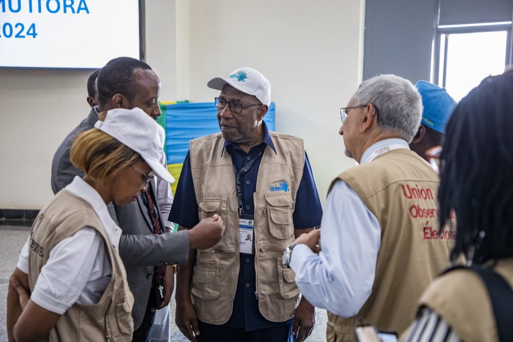
<path id="1" fill-rule="evenodd" d="M 101 68 L 139 59 L 138 0 L 0 0 L 0 67 Z"/>

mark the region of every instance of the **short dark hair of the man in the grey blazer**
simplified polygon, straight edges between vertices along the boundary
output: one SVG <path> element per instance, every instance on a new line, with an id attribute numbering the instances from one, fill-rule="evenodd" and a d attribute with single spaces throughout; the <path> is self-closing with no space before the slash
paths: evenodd
<path id="1" fill-rule="evenodd" d="M 128 101 L 133 101 L 137 92 L 132 78 L 135 69 L 151 70 L 148 64 L 130 57 L 115 58 L 102 68 L 96 82 L 98 102 L 101 106 L 115 94 L 122 94 Z"/>

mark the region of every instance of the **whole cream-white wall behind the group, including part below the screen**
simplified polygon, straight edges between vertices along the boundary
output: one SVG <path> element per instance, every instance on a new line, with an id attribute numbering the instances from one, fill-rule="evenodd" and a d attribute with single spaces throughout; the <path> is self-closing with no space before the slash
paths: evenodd
<path id="1" fill-rule="evenodd" d="M 212 101 L 241 66 L 271 82 L 277 130 L 305 139 L 322 201 L 344 156 L 340 107 L 362 77 L 365 0 L 146 0 L 146 61 L 162 101 Z M 89 113 L 92 70 L 0 69 L 0 208 L 41 208 L 52 157 Z"/>

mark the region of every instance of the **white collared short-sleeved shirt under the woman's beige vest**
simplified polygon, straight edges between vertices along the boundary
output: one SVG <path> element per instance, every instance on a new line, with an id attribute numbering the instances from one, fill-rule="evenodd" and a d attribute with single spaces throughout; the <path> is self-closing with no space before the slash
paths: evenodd
<path id="1" fill-rule="evenodd" d="M 65 189 L 91 204 L 117 251 L 121 229 L 110 217 L 100 194 L 78 176 Z M 30 237 L 17 264 L 17 268 L 27 274 L 29 247 Z M 100 301 L 111 275 L 112 266 L 103 237 L 92 227 L 85 226 L 52 249 L 30 298 L 38 306 L 62 315 L 75 302 L 93 305 Z"/>

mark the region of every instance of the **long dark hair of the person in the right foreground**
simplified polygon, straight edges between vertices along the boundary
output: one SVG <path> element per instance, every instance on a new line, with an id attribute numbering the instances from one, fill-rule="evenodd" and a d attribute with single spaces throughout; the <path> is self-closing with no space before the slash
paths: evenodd
<path id="1" fill-rule="evenodd" d="M 440 226 L 456 213 L 451 258 L 513 256 L 513 71 L 487 77 L 450 118 L 441 154 Z"/>

